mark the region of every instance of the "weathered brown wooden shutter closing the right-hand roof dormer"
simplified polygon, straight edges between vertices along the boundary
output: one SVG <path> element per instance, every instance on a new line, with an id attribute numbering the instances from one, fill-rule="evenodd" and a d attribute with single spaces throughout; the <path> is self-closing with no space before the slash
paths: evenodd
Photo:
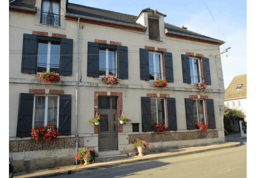
<path id="1" fill-rule="evenodd" d="M 149 21 L 149 39 L 160 41 L 159 21 L 156 18 L 148 18 Z"/>

